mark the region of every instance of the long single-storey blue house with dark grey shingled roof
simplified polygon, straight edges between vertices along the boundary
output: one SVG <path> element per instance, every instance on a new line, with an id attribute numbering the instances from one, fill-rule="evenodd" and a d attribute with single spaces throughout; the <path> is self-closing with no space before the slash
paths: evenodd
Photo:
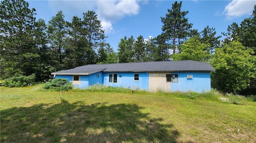
<path id="1" fill-rule="evenodd" d="M 203 92 L 211 89 L 213 71 L 209 63 L 188 60 L 85 65 L 52 74 L 67 78 L 77 88 L 100 83 L 150 92 Z"/>

